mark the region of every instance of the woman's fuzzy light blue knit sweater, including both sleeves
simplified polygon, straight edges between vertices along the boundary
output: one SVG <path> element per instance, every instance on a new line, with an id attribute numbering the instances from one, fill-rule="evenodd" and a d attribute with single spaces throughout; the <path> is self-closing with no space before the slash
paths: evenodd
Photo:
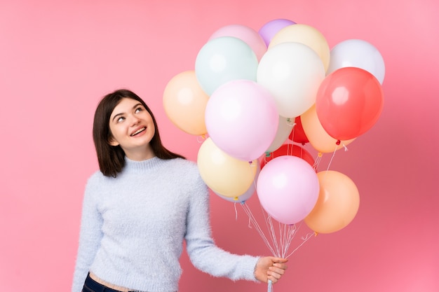
<path id="1" fill-rule="evenodd" d="M 184 239 L 199 270 L 256 281 L 257 257 L 215 246 L 208 208 L 208 188 L 189 160 L 126 158 L 116 179 L 96 172 L 83 198 L 72 292 L 81 291 L 88 271 L 133 290 L 177 291 Z"/>

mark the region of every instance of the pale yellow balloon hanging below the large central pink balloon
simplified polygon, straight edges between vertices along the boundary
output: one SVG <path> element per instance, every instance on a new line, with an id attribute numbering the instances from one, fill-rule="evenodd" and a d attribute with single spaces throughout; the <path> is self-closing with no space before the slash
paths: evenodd
<path id="1" fill-rule="evenodd" d="M 254 183 L 257 160 L 238 160 L 205 139 L 198 150 L 198 169 L 205 184 L 225 197 L 238 197 Z"/>

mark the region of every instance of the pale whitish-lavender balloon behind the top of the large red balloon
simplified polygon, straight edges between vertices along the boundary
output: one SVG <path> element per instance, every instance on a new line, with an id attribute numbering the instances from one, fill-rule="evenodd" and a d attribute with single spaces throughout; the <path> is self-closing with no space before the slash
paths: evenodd
<path id="1" fill-rule="evenodd" d="M 337 43 L 331 50 L 330 66 L 326 74 L 344 67 L 356 67 L 368 71 L 383 83 L 386 67 L 384 59 L 371 43 L 360 39 L 349 39 Z"/>

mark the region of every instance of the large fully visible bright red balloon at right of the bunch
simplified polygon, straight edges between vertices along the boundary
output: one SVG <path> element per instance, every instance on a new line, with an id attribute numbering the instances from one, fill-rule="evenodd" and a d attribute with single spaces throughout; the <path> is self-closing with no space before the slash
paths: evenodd
<path id="1" fill-rule="evenodd" d="M 356 67 L 333 71 L 320 84 L 316 113 L 332 138 L 349 140 L 377 122 L 384 105 L 381 84 L 370 72 Z"/>

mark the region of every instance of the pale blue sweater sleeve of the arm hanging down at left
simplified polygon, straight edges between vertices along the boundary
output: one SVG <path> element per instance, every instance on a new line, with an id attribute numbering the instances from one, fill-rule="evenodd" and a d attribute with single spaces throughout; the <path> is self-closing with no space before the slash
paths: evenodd
<path id="1" fill-rule="evenodd" d="M 83 197 L 79 247 L 73 276 L 72 292 L 81 292 L 102 239 L 102 216 L 97 209 L 96 176 L 90 178 Z"/>

